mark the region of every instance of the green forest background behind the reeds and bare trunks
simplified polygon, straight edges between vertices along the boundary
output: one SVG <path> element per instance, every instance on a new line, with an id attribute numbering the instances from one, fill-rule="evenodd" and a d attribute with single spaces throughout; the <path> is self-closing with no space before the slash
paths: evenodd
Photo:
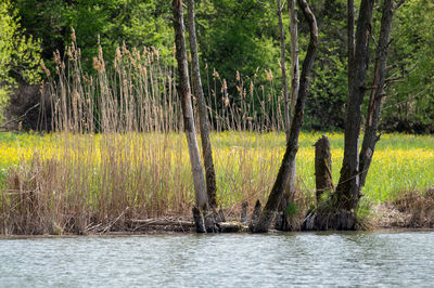
<path id="1" fill-rule="evenodd" d="M 227 81 L 227 97 L 241 101 L 238 78 L 255 78 L 255 84 L 281 97 L 279 25 L 273 1 L 196 1 L 196 29 L 203 75 L 218 73 Z M 318 18 L 320 45 L 314 65 L 305 114 L 305 130 L 340 131 L 344 128 L 347 91 L 346 1 L 310 1 Z M 289 27 L 289 15 L 283 14 Z M 376 16 L 376 17 L 375 17 Z M 308 27 L 299 16 L 299 47 L 303 61 Z M 175 65 L 170 3 L 163 0 L 15 0 L 0 4 L 0 105 L 7 118 L 22 115 L 39 101 L 44 77 L 41 61 L 54 70 L 53 53 L 64 55 L 71 45 L 72 27 L 86 74 L 94 75 L 92 57 L 100 41 L 104 60 L 113 63 L 116 47 L 124 43 L 154 48 L 159 61 Z M 373 35 L 380 29 L 374 13 Z M 290 47 L 289 28 L 285 29 Z M 387 132 L 434 132 L 434 4 L 410 0 L 396 12 L 388 51 L 394 81 L 386 87 L 381 130 Z M 374 45 L 371 45 L 374 49 Z M 289 53 L 286 53 L 289 55 Z M 288 60 L 289 61 L 289 60 Z M 372 78 L 372 77 L 368 77 Z M 271 79 L 271 81 L 270 81 Z M 204 77 L 205 87 L 210 87 Z M 221 83 L 222 84 L 222 83 Z M 216 88 L 218 89 L 218 88 Z M 205 94 L 210 93 L 205 89 Z M 26 97 L 23 100 L 23 94 Z M 10 100 L 12 95 L 12 99 Z M 247 94 L 248 97 L 248 94 Z M 252 100 L 260 101 L 260 100 Z M 368 97 L 366 97 L 366 102 Z M 225 101 L 208 103 L 222 106 Z M 260 105 L 258 104 L 257 107 Z M 366 109 L 367 103 L 365 103 Z M 218 109 L 218 107 L 212 107 Z M 31 114 L 30 114 L 31 115 Z M 28 116 L 23 128 L 35 129 Z"/>

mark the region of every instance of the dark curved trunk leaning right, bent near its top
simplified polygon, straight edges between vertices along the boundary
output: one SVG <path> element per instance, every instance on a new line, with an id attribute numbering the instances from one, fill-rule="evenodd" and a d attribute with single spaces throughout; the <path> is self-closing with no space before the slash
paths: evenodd
<path id="1" fill-rule="evenodd" d="M 305 61 L 303 62 L 299 94 L 295 105 L 294 117 L 291 123 L 290 136 L 286 142 L 286 152 L 283 156 L 282 165 L 279 169 L 275 185 L 272 186 L 267 204 L 264 207 L 264 210 L 260 212 L 260 215 L 258 218 L 255 218 L 255 221 L 252 221 L 250 225 L 250 230 L 253 233 L 268 232 L 276 210 L 286 187 L 291 166 L 295 161 L 295 155 L 298 150 L 298 135 L 303 125 L 303 115 L 307 97 L 309 75 L 318 47 L 318 28 L 315 15 L 310 11 L 306 0 L 298 0 L 298 5 L 302 8 L 303 14 L 305 15 L 306 19 L 309 22 L 310 41 L 307 48 Z"/>

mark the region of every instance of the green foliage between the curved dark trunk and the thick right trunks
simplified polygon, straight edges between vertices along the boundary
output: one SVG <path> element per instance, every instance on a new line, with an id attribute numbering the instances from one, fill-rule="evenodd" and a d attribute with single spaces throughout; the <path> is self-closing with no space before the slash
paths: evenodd
<path id="1" fill-rule="evenodd" d="M 320 42 L 304 128 L 321 131 L 343 129 L 344 105 L 348 95 L 346 3 L 318 1 L 312 10 L 318 18 Z"/>

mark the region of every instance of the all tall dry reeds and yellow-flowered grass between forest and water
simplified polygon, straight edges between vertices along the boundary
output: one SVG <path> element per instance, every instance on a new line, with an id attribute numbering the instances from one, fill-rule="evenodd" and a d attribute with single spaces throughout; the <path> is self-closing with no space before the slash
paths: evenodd
<path id="1" fill-rule="evenodd" d="M 133 219 L 189 215 L 194 193 L 175 67 L 163 63 L 156 49 L 124 45 L 113 66 L 100 49 L 95 75 L 86 75 L 75 42 L 54 62 L 56 74 L 44 86 L 53 132 L 0 134 L 0 233 L 136 231 Z M 273 184 L 285 141 L 279 132 L 282 100 L 269 74 L 269 90 L 257 87 L 256 76 L 237 74 L 238 95 L 229 95 L 217 71 L 208 77 L 218 202 L 238 218 L 243 201 L 253 209 Z M 343 134 L 327 135 L 336 181 Z M 299 215 L 315 199 L 312 144 L 319 136 L 299 139 L 294 209 Z M 385 201 L 432 185 L 433 146 L 432 136 L 383 135 L 363 199 Z"/>

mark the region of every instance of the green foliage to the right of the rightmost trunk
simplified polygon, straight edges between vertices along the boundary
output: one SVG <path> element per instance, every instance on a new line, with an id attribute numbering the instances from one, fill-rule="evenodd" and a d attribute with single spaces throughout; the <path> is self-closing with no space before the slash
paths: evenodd
<path id="1" fill-rule="evenodd" d="M 434 132 L 434 3 L 409 0 L 397 10 L 390 50 L 390 84 L 383 109 L 385 129 Z"/>

